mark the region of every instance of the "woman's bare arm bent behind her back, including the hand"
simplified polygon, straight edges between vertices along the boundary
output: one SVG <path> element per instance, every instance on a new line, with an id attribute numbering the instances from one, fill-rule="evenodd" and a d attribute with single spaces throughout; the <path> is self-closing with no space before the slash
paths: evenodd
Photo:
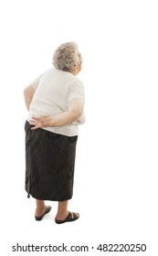
<path id="1" fill-rule="evenodd" d="M 34 125 L 32 130 L 48 126 L 62 126 L 70 123 L 74 123 L 79 120 L 83 113 L 84 101 L 74 100 L 71 101 L 67 112 L 62 112 L 57 115 L 43 116 L 43 117 L 33 117 L 30 120 L 30 124 Z"/>

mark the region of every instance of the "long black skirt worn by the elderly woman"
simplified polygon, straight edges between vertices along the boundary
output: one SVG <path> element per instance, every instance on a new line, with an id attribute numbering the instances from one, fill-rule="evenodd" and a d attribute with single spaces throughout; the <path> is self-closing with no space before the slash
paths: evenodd
<path id="1" fill-rule="evenodd" d="M 30 130 L 26 121 L 26 192 L 41 200 L 72 197 L 78 136 L 68 137 L 44 129 Z"/>

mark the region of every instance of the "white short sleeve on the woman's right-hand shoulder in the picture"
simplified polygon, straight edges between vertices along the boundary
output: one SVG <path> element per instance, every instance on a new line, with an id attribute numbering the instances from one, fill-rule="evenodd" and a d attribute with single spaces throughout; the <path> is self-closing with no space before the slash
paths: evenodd
<path id="1" fill-rule="evenodd" d="M 69 87 L 68 91 L 68 103 L 73 100 L 85 101 L 85 90 L 80 80 L 74 81 Z"/>

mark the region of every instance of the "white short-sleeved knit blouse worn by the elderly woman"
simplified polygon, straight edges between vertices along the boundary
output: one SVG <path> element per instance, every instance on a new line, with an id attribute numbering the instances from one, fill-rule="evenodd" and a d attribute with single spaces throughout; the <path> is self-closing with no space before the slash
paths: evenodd
<path id="1" fill-rule="evenodd" d="M 81 80 L 67 71 L 48 69 L 31 85 L 35 93 L 30 104 L 28 121 L 32 116 L 47 116 L 66 112 L 70 101 L 75 99 L 85 101 L 84 86 Z M 85 116 L 83 114 L 79 122 L 43 129 L 52 133 L 75 136 L 79 134 L 79 123 L 84 122 Z"/>

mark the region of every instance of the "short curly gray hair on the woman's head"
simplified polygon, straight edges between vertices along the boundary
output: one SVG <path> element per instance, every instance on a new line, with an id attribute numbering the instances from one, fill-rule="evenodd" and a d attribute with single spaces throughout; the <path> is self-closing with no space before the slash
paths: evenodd
<path id="1" fill-rule="evenodd" d="M 68 42 L 60 45 L 53 55 L 53 66 L 56 69 L 63 71 L 71 71 L 74 65 L 79 63 L 79 59 L 76 56 L 78 45 L 75 42 Z"/>

